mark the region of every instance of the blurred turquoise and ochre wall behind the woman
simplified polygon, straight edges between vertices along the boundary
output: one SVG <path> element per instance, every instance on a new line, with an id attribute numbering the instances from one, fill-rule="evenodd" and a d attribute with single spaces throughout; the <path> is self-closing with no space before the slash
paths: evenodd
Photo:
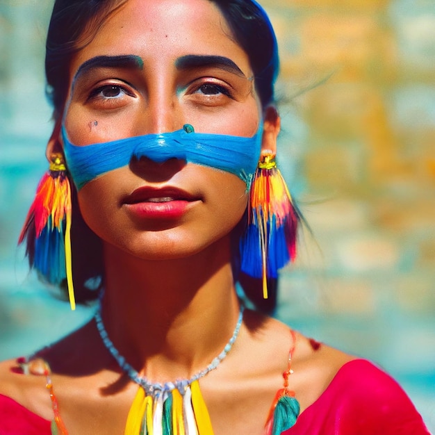
<path id="1" fill-rule="evenodd" d="M 435 430 L 433 0 L 263 0 L 277 31 L 281 170 L 312 235 L 277 317 L 400 381 Z M 51 0 L 0 1 L 0 358 L 85 322 L 15 247 L 51 133 Z"/>

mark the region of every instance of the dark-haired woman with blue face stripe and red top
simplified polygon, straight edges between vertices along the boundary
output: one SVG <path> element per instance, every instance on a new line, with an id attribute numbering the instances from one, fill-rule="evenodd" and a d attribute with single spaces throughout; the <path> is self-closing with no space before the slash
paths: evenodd
<path id="1" fill-rule="evenodd" d="M 46 72 L 49 182 L 68 196 L 65 157 L 75 185 L 72 268 L 67 202 L 42 232 L 33 208 L 22 240 L 45 279 L 66 276 L 72 306 L 101 303 L 88 325 L 1 363 L 1 434 L 428 433 L 368 361 L 240 309 L 240 262 L 274 278 L 274 259 L 247 258 L 261 228 L 248 190 L 258 161 L 272 182 L 279 133 L 277 48 L 254 1 L 58 0 Z M 66 270 L 38 250 L 56 226 Z"/>

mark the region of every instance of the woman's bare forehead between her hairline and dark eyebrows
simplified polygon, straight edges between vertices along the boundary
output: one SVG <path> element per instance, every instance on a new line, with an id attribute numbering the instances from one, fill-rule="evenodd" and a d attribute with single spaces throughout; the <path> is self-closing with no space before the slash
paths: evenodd
<path id="1" fill-rule="evenodd" d="M 189 54 L 231 58 L 249 75 L 249 59 L 210 0 L 128 0 L 79 51 L 72 74 L 101 55 L 135 54 L 158 67 Z"/>

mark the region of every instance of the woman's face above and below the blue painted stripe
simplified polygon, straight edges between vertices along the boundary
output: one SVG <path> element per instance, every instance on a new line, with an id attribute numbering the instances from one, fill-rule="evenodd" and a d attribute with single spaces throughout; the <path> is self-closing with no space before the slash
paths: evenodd
<path id="1" fill-rule="evenodd" d="M 252 137 L 260 122 L 247 54 L 208 0 L 129 0 L 72 61 L 64 124 L 75 145 L 184 124 Z M 229 172 L 141 158 L 85 184 L 79 204 L 107 243 L 177 258 L 226 236 L 243 215 L 245 191 Z"/>

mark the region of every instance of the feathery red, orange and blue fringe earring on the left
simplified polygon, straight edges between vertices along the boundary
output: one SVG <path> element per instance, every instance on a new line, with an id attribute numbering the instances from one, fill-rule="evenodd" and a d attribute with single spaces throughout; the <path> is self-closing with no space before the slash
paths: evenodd
<path id="1" fill-rule="evenodd" d="M 71 260 L 71 186 L 63 155 L 51 155 L 49 172 L 44 174 L 28 211 L 18 244 L 26 240 L 26 256 L 50 284 L 67 280 L 69 304 L 76 309 Z"/>

